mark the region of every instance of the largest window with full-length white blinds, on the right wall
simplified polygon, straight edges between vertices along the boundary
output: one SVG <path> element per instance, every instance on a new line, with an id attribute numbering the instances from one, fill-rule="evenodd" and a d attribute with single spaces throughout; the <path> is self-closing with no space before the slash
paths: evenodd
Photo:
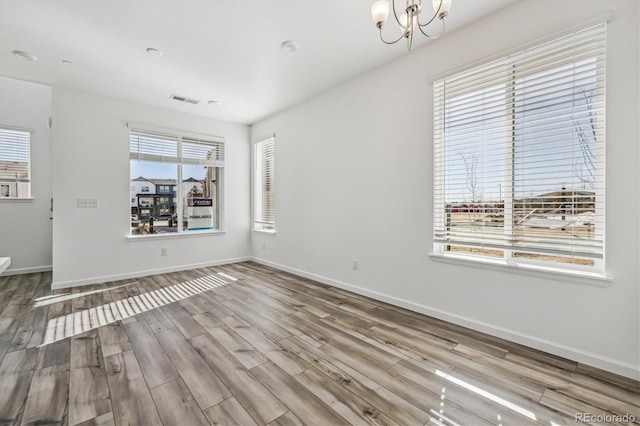
<path id="1" fill-rule="evenodd" d="M 440 254 L 602 270 L 606 23 L 434 82 Z"/>

